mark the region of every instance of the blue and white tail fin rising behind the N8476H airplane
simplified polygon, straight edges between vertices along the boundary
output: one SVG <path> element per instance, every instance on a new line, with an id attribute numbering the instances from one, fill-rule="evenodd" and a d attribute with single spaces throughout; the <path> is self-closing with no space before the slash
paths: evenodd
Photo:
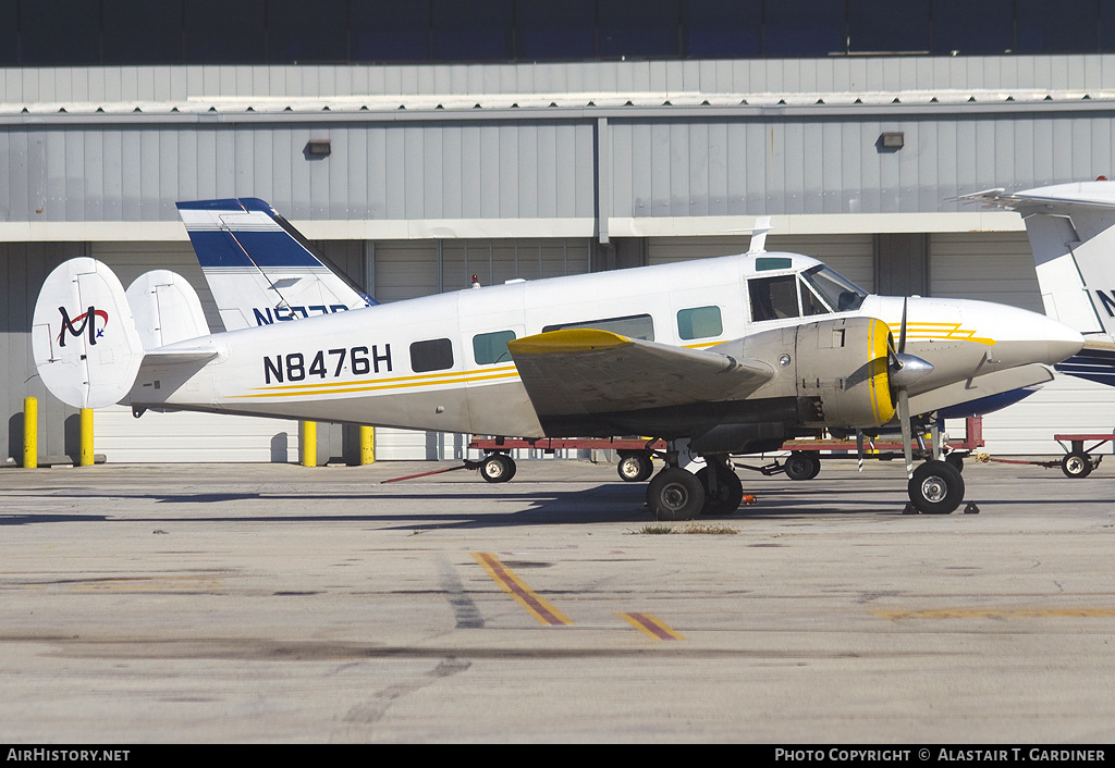
<path id="1" fill-rule="evenodd" d="M 262 200 L 177 206 L 226 330 L 376 303 Z"/>

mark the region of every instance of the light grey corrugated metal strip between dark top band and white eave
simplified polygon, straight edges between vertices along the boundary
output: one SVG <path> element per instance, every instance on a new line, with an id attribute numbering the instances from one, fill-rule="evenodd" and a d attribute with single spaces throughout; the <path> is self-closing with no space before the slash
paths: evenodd
<path id="1" fill-rule="evenodd" d="M 1115 88 L 1115 56 L 832 57 L 507 65 L 0 69 L 0 103 L 415 95 L 822 94 Z M 777 100 L 777 99 L 775 99 Z"/>

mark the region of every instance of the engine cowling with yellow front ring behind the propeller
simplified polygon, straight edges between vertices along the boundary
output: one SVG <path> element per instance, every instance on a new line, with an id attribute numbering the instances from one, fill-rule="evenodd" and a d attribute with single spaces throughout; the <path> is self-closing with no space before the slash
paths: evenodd
<path id="1" fill-rule="evenodd" d="M 824 320 L 798 325 L 796 336 L 797 396 L 811 404 L 806 426 L 879 427 L 894 417 L 886 323 Z"/>

